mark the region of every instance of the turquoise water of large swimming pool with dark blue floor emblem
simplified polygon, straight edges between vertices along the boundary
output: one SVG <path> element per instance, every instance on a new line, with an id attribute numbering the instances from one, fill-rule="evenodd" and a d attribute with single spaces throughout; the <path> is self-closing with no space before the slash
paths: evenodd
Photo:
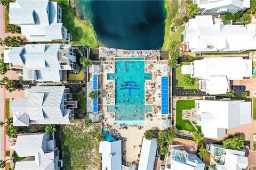
<path id="1" fill-rule="evenodd" d="M 138 60 L 144 58 L 115 58 L 115 73 L 108 74 L 108 80 L 115 80 L 115 106 L 108 106 L 108 112 L 115 112 L 117 124 L 144 124 L 145 112 L 152 112 L 145 105 L 145 80 L 152 75 L 145 73 L 145 61 Z"/>

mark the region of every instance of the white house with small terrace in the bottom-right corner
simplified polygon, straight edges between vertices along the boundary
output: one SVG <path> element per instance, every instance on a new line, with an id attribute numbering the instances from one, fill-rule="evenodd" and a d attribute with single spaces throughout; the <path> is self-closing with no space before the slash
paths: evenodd
<path id="1" fill-rule="evenodd" d="M 213 155 L 211 165 L 207 165 L 209 170 L 242 170 L 248 166 L 248 158 L 244 149 L 225 149 L 221 145 L 209 143 L 206 149 Z"/>

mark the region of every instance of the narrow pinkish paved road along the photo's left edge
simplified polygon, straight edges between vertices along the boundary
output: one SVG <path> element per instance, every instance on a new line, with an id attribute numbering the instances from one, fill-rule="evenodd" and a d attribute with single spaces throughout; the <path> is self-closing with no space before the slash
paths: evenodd
<path id="1" fill-rule="evenodd" d="M 4 11 L 0 5 L 0 37 L 4 37 Z M 0 54 L 3 53 L 3 47 L 0 46 Z M 2 79 L 0 75 L 0 79 Z M 4 121 L 4 89 L 0 88 L 0 121 Z M 4 127 L 0 127 L 0 159 L 4 159 Z"/>

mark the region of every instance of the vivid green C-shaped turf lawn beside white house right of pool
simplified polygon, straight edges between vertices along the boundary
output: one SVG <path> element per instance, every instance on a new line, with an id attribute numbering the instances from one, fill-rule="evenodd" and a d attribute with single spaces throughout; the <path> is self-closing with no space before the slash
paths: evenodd
<path id="1" fill-rule="evenodd" d="M 182 110 L 189 110 L 195 107 L 195 100 L 178 100 L 176 103 L 176 128 L 195 132 L 194 126 L 189 120 L 182 120 Z M 199 127 L 198 127 L 199 128 Z"/>

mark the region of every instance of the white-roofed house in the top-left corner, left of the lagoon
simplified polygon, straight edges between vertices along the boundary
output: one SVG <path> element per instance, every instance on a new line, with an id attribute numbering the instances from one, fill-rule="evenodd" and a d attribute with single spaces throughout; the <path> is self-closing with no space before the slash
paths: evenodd
<path id="1" fill-rule="evenodd" d="M 29 42 L 70 41 L 63 27 L 62 10 L 49 0 L 17 0 L 10 3 L 10 24 L 20 25 L 21 34 Z"/>

